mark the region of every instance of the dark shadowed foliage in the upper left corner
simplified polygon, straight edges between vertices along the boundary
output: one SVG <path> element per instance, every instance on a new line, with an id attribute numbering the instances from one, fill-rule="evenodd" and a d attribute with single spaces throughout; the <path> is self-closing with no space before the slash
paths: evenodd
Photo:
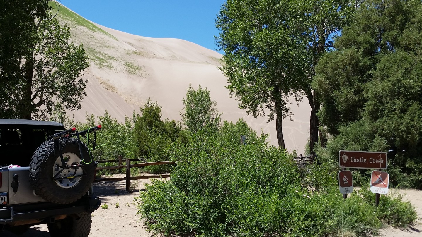
<path id="1" fill-rule="evenodd" d="M 38 19 L 48 10 L 46 0 L 5 0 L 0 3 L 0 118 L 10 118 L 10 93 L 16 91 L 22 58 L 32 54 L 38 40 Z"/>

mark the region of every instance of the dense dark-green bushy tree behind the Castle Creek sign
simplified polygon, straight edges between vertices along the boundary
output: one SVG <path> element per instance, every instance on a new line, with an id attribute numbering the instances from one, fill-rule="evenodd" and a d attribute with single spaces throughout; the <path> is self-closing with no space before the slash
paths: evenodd
<path id="1" fill-rule="evenodd" d="M 392 184 L 419 189 L 421 12 L 420 1 L 365 2 L 320 60 L 314 81 L 323 103 L 319 118 L 336 136 L 336 152 L 390 151 Z"/>

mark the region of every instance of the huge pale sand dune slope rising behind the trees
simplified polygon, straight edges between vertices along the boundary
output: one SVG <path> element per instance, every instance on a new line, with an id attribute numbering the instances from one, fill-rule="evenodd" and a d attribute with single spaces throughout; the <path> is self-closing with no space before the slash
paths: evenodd
<path id="1" fill-rule="evenodd" d="M 74 111 L 75 118 L 83 121 L 85 113 L 103 115 L 105 110 L 120 121 L 132 115 L 148 98 L 162 106 L 163 117 L 180 121 L 182 99 L 189 83 L 201 85 L 211 92 L 223 119 L 237 121 L 243 118 L 260 133 L 270 133 L 269 141 L 277 145 L 275 122 L 266 117 L 253 118 L 238 108 L 235 98 L 229 98 L 227 78 L 217 68 L 221 54 L 186 40 L 147 38 L 113 30 L 95 24 L 98 30 L 78 25 L 72 19 L 61 17 L 70 25 L 75 43 L 83 43 L 91 66 L 84 78 L 89 80 L 83 108 Z M 292 103 L 294 121 L 284 120 L 283 132 L 287 149 L 303 153 L 309 134 L 307 101 L 299 107 Z"/>

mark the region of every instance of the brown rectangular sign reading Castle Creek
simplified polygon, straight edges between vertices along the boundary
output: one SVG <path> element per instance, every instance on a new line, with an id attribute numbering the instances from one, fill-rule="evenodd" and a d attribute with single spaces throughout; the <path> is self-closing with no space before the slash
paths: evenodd
<path id="1" fill-rule="evenodd" d="M 386 152 L 339 151 L 338 164 L 342 168 L 387 169 Z"/>

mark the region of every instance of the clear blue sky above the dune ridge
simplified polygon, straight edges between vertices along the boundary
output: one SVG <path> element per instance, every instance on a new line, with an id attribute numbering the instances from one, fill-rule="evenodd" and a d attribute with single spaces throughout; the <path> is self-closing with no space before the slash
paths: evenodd
<path id="1" fill-rule="evenodd" d="M 60 0 L 58 0 L 60 1 Z M 216 14 L 224 0 L 61 0 L 97 24 L 153 38 L 179 38 L 216 50 Z"/>

